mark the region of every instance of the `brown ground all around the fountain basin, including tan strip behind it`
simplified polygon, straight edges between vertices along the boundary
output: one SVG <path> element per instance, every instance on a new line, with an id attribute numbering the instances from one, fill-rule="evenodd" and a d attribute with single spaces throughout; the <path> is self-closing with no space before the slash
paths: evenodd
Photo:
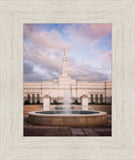
<path id="1" fill-rule="evenodd" d="M 33 125 L 28 123 L 27 121 L 28 112 L 31 112 L 33 110 L 41 110 L 42 105 L 25 105 L 24 136 L 111 136 L 111 105 L 92 105 L 92 108 L 94 110 L 101 110 L 107 113 L 108 123 L 105 126 L 81 127 L 80 125 L 80 127 L 76 128 Z"/>

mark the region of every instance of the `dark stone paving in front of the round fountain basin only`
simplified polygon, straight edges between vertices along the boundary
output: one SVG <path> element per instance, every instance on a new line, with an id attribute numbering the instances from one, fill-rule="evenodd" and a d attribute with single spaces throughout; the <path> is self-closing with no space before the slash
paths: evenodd
<path id="1" fill-rule="evenodd" d="M 25 116 L 24 136 L 111 136 L 111 116 L 106 126 L 87 128 L 36 126 L 27 123 Z"/>

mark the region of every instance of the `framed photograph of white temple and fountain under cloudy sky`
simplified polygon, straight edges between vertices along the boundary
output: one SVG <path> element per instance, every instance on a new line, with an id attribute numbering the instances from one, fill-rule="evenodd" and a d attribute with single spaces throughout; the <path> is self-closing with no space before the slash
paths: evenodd
<path id="1" fill-rule="evenodd" d="M 23 24 L 23 136 L 112 136 L 112 24 Z"/>

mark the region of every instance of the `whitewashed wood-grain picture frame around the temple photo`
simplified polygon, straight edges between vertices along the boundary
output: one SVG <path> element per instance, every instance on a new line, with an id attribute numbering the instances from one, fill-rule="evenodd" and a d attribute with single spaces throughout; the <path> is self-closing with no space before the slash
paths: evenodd
<path id="1" fill-rule="evenodd" d="M 112 137 L 23 137 L 23 23 L 112 23 Z M 0 1 L 0 159 L 135 159 L 135 1 Z"/>

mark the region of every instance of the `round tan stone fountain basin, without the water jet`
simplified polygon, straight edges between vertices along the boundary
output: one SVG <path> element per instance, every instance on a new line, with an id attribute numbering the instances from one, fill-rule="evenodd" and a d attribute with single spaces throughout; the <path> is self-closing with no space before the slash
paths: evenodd
<path id="1" fill-rule="evenodd" d="M 36 111 L 29 112 L 28 122 L 34 125 L 53 127 L 90 127 L 107 123 L 107 113 L 101 111 Z"/>

